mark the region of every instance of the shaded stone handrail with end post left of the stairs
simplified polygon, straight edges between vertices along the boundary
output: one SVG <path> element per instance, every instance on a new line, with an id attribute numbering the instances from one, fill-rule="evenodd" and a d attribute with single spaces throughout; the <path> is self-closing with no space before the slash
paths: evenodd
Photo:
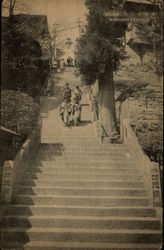
<path id="1" fill-rule="evenodd" d="M 14 160 L 5 161 L 3 164 L 1 204 L 7 205 L 12 201 L 13 192 L 17 188 L 20 177 L 24 175 L 26 169 L 40 144 L 41 139 L 41 119 L 31 133 L 30 137 L 22 145 Z"/>

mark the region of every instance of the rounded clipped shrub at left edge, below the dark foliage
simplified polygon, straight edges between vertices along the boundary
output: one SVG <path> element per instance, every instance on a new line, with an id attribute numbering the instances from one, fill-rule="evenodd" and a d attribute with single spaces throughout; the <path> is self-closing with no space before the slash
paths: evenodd
<path id="1" fill-rule="evenodd" d="M 2 126 L 27 137 L 36 126 L 38 104 L 20 91 L 2 90 L 1 97 Z"/>

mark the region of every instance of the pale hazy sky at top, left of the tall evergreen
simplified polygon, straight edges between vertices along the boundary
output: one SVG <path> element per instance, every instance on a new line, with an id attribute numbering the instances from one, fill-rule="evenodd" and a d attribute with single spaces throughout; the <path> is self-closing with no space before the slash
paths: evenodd
<path id="1" fill-rule="evenodd" d="M 59 23 L 60 29 L 72 28 L 77 26 L 77 20 L 80 18 L 82 23 L 86 23 L 86 7 L 85 0 L 16 0 L 15 8 L 20 8 L 19 13 L 44 14 L 47 15 L 50 31 L 55 22 Z M 3 4 L 7 4 L 9 0 L 3 0 Z M 24 10 L 22 10 L 24 9 Z M 4 9 L 3 15 L 8 14 L 8 10 Z M 17 11 L 14 12 L 17 14 Z M 78 28 L 72 28 L 65 32 L 60 32 L 60 37 L 72 37 L 74 40 L 79 34 Z"/>

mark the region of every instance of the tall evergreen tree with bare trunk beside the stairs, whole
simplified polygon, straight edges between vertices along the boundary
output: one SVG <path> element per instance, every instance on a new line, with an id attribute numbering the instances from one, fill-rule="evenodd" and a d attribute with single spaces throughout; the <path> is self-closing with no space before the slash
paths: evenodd
<path id="1" fill-rule="evenodd" d="M 118 10 L 122 3 L 121 0 L 86 0 L 88 25 L 76 51 L 77 66 L 85 82 L 91 85 L 98 79 L 99 117 L 109 137 L 117 130 L 113 72 L 119 59 L 124 57 L 122 47 L 117 46 L 117 38 L 123 35 L 126 23 L 111 21 L 105 13 Z"/>

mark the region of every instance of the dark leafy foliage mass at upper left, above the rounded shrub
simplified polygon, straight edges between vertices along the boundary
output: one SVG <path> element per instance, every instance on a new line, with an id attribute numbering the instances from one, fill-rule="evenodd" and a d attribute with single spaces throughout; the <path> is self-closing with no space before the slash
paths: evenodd
<path id="1" fill-rule="evenodd" d="M 17 19 L 2 19 L 2 88 L 20 90 L 35 99 L 48 75 L 49 59 L 42 59 L 39 42 Z"/>

